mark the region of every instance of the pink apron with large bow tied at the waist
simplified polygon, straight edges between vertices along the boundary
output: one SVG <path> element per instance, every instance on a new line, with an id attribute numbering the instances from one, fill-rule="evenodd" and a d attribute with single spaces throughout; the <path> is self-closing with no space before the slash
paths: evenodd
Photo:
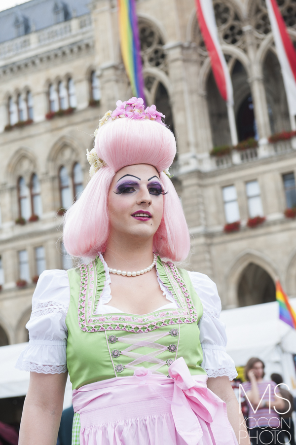
<path id="1" fill-rule="evenodd" d="M 207 376 L 191 376 L 183 357 L 169 375 L 138 368 L 74 390 L 80 445 L 237 445 L 226 404 L 207 388 Z"/>

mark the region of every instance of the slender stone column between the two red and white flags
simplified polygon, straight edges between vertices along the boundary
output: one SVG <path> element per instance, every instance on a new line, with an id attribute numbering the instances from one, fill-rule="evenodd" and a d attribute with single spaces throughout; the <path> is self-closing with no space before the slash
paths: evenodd
<path id="1" fill-rule="evenodd" d="M 256 64 L 256 44 L 253 34 L 253 27 L 247 25 L 243 27 L 246 37 L 247 52 L 250 60 L 250 86 L 254 104 L 254 114 L 257 123 L 259 139 L 268 138 L 271 134 L 268 108 L 266 101 L 263 76 L 260 74 L 258 65 Z"/>

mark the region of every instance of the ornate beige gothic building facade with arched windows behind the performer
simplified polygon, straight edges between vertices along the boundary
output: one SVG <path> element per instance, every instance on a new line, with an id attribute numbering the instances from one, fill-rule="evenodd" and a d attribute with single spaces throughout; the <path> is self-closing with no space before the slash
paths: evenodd
<path id="1" fill-rule="evenodd" d="M 296 42 L 296 1 L 277 2 Z M 177 138 L 187 268 L 209 275 L 231 308 L 274 300 L 277 279 L 296 296 L 296 139 L 265 1 L 213 3 L 235 148 L 194 0 L 138 0 L 137 13 L 146 101 Z M 88 181 L 100 117 L 131 95 L 115 0 L 31 0 L 0 12 L 0 345 L 27 340 L 40 273 L 71 267 L 61 215 Z"/>

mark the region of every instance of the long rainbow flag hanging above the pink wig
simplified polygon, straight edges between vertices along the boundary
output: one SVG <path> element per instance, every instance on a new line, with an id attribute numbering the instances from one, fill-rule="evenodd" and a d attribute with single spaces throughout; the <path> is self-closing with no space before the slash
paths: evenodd
<path id="1" fill-rule="evenodd" d="M 141 46 L 135 0 L 118 0 L 119 34 L 123 63 L 136 97 L 144 97 Z"/>

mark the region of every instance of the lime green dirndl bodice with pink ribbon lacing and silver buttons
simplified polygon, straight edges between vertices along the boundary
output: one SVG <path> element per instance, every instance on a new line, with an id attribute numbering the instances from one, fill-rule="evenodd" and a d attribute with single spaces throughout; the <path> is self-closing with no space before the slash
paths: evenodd
<path id="1" fill-rule="evenodd" d="M 145 315 L 96 313 L 106 281 L 104 264 L 99 257 L 90 264 L 68 270 L 67 368 L 73 389 L 133 375 L 136 366 L 167 376 L 168 366 L 179 357 L 184 358 L 192 375 L 206 374 L 200 366 L 203 354 L 197 325 L 203 307 L 189 275 L 185 269 L 163 262 L 159 257 L 156 268 L 179 307 Z M 159 351 L 156 354 L 155 343 Z M 138 357 L 136 366 L 133 365 L 135 356 Z M 79 429 L 79 414 L 75 413 L 72 445 L 79 444 Z"/>

